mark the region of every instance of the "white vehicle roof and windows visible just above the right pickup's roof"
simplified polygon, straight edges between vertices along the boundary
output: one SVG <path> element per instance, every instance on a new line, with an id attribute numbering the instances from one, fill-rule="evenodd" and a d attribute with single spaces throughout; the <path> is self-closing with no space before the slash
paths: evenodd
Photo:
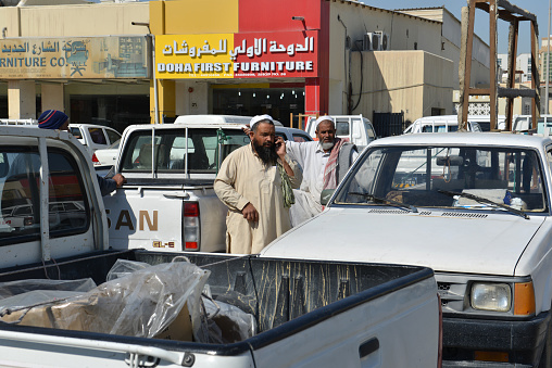
<path id="1" fill-rule="evenodd" d="M 499 116 L 499 128 L 505 126 L 505 117 Z M 403 134 L 418 132 L 451 132 L 459 130 L 457 115 L 424 116 L 412 123 Z M 489 115 L 469 115 L 467 117 L 467 131 L 490 131 Z"/>

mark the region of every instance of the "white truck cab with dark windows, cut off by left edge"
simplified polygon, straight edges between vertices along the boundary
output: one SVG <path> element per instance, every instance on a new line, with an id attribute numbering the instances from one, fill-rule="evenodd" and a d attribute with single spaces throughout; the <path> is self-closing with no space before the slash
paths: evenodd
<path id="1" fill-rule="evenodd" d="M 97 195 L 98 180 L 90 173 L 88 153 L 70 134 L 0 126 L 0 245 L 4 251 L 0 267 L 108 246 L 108 232 L 93 226 L 105 217 Z"/>

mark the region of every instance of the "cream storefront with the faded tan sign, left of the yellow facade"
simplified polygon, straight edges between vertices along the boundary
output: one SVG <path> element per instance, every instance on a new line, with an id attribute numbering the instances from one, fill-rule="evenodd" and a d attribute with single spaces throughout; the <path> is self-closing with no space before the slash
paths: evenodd
<path id="1" fill-rule="evenodd" d="M 149 123 L 148 3 L 0 8 L 0 117 Z"/>

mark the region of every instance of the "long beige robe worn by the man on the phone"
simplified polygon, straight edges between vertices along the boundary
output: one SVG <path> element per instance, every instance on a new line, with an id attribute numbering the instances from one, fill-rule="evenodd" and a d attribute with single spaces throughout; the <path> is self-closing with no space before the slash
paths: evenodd
<path id="1" fill-rule="evenodd" d="M 291 186 L 302 179 L 297 162 L 286 155 L 294 173 Z M 221 165 L 215 179 L 216 195 L 228 206 L 226 251 L 255 254 L 291 228 L 289 210 L 284 207 L 281 177 L 277 166 L 266 165 L 251 144 L 237 149 Z M 259 223 L 243 218 L 241 211 L 251 203 L 259 212 Z"/>

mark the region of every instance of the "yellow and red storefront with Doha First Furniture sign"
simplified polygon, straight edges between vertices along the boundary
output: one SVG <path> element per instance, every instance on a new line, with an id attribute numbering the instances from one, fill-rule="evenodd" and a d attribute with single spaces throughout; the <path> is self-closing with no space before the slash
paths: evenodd
<path id="1" fill-rule="evenodd" d="M 150 2 L 160 120 L 328 112 L 328 15 L 321 0 Z"/>

